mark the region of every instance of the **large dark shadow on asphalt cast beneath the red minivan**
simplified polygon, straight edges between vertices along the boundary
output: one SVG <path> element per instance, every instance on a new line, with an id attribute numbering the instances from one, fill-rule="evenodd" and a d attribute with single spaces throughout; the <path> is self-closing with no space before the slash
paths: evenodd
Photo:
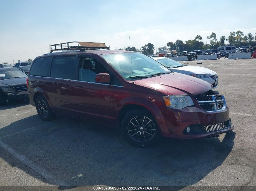
<path id="1" fill-rule="evenodd" d="M 15 132 L 19 133 L 10 135 Z M 60 115 L 50 122 L 33 115 L 0 129 L 2 142 L 74 187 L 193 185 L 219 167 L 231 152 L 235 133 L 223 136 L 222 141 L 163 138 L 154 147 L 135 148 L 123 140 L 118 129 Z M 12 166 L 54 184 L 3 151 L 0 157 Z"/>

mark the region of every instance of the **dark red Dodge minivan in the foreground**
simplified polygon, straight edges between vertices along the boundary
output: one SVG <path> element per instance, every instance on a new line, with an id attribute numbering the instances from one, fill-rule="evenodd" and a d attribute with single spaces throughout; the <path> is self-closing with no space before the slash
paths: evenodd
<path id="1" fill-rule="evenodd" d="M 134 146 L 152 145 L 161 136 L 200 138 L 234 129 L 224 96 L 210 84 L 136 52 L 39 56 L 28 74 L 28 94 L 43 120 L 61 113 L 120 127 Z"/>

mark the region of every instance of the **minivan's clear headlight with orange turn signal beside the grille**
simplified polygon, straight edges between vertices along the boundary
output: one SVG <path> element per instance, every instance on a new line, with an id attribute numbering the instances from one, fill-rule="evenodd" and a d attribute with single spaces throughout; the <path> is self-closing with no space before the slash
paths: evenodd
<path id="1" fill-rule="evenodd" d="M 194 105 L 190 96 L 163 96 L 167 107 L 173 109 L 182 109 Z"/>

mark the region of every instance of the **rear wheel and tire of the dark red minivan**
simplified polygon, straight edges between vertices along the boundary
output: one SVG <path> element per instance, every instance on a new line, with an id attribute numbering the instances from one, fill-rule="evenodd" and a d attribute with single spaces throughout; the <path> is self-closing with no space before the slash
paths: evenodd
<path id="1" fill-rule="evenodd" d="M 44 121 L 50 121 L 55 117 L 45 97 L 38 96 L 35 100 L 35 107 L 39 117 Z"/>

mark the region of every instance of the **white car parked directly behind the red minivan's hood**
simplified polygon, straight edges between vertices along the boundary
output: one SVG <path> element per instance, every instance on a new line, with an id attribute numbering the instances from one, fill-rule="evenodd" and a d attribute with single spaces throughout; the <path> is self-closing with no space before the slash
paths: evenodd
<path id="1" fill-rule="evenodd" d="M 209 84 L 211 84 L 214 88 L 218 87 L 218 76 L 217 73 L 204 67 L 200 66 L 188 66 L 188 65 L 183 65 L 179 62 L 176 62 L 175 60 L 169 59 L 169 58 L 153 58 L 160 64 L 164 65 L 166 68 L 173 72 L 178 72 L 181 74 L 186 74 L 189 76 L 193 76 L 196 78 L 200 78 L 204 81 L 207 81 Z"/>

